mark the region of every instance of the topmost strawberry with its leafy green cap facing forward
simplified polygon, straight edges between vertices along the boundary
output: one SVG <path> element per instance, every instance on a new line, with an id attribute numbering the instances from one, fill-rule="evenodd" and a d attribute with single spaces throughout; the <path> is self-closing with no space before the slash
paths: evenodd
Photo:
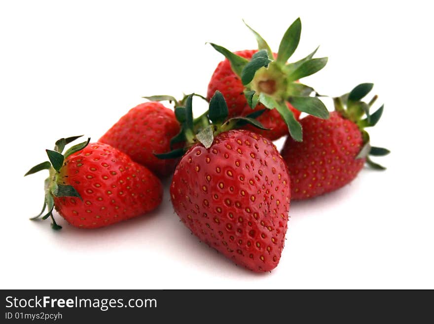
<path id="1" fill-rule="evenodd" d="M 258 33 L 250 29 L 256 36 L 259 51 L 231 53 L 211 43 L 226 59 L 218 64 L 211 77 L 208 98 L 219 90 L 228 103 L 229 116 L 245 116 L 252 109 L 271 109 L 258 117 L 258 121 L 270 130 L 257 132 L 276 140 L 288 134 L 289 130 L 296 141 L 301 141 L 301 126 L 297 122 L 300 111 L 320 118 L 327 118 L 328 112 L 318 98 L 310 97 L 315 93 L 314 89 L 299 83 L 298 79 L 320 71 L 327 58 L 314 59 L 315 50 L 304 59 L 287 64 L 298 46 L 300 19 L 295 20 L 283 36 L 277 54 Z"/>

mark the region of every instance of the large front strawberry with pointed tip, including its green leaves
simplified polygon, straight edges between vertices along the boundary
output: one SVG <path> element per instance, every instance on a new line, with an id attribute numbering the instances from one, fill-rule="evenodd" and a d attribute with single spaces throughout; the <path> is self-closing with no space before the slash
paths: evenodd
<path id="1" fill-rule="evenodd" d="M 186 119 L 191 118 L 191 101 L 185 111 Z M 209 109 L 213 124 L 191 141 L 175 170 L 172 203 L 201 241 L 248 269 L 270 271 L 279 263 L 287 231 L 287 167 L 269 140 L 247 130 L 229 130 L 240 121 L 260 123 L 232 118 L 220 126 L 227 113 L 217 91 Z"/>

